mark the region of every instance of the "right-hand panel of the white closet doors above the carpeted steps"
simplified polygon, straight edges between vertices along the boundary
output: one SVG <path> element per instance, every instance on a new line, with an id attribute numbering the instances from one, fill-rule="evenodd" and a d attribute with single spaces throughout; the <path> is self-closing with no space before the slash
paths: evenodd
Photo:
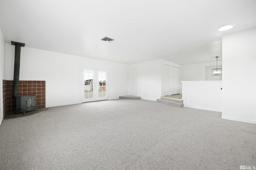
<path id="1" fill-rule="evenodd" d="M 170 66 L 170 95 L 180 94 L 180 68 Z"/>

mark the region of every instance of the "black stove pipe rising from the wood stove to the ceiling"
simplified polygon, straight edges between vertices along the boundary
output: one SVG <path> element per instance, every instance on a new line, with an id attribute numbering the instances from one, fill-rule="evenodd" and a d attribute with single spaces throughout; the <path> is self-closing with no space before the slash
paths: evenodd
<path id="1" fill-rule="evenodd" d="M 13 76 L 13 90 L 12 96 L 16 98 L 19 92 L 19 80 L 20 80 L 20 47 L 25 47 L 24 43 L 17 43 L 11 41 L 12 45 L 15 45 L 15 59 L 14 59 L 14 76 Z"/>

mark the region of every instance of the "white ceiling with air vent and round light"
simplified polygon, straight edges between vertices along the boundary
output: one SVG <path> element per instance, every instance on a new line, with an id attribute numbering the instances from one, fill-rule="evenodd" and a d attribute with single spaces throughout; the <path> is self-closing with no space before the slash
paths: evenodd
<path id="1" fill-rule="evenodd" d="M 182 65 L 221 60 L 223 34 L 256 27 L 256 0 L 1 0 L 0 17 L 9 44 L 126 64 Z M 218 31 L 227 24 L 235 26 Z M 101 41 L 106 36 L 115 41 Z"/>

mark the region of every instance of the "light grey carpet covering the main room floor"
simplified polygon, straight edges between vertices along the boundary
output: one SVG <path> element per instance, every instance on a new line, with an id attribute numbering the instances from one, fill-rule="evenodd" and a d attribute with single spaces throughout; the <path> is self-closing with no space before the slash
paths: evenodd
<path id="1" fill-rule="evenodd" d="M 1 170 L 239 170 L 256 125 L 146 100 L 50 107 L 0 126 Z"/>

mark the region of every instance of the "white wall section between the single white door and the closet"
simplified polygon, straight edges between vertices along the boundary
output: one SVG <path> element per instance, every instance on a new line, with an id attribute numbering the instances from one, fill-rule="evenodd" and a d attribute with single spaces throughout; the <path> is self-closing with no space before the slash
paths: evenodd
<path id="1" fill-rule="evenodd" d="M 161 97 L 161 59 L 130 64 L 137 68 L 137 96 L 144 100 Z"/>

